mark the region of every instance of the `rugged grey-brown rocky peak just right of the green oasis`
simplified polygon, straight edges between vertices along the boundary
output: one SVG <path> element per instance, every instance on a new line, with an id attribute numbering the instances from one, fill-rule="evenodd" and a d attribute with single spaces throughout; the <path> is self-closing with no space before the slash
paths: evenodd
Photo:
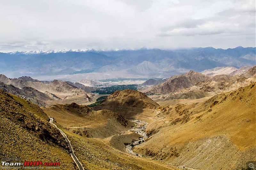
<path id="1" fill-rule="evenodd" d="M 194 86 L 197 82 L 207 81 L 210 79 L 210 76 L 204 75 L 202 73 L 197 73 L 191 70 L 186 74 L 172 76 L 164 83 L 153 87 L 153 89 L 148 91 L 147 94 L 170 93 L 178 91 L 180 89 L 189 88 L 191 86 Z"/>

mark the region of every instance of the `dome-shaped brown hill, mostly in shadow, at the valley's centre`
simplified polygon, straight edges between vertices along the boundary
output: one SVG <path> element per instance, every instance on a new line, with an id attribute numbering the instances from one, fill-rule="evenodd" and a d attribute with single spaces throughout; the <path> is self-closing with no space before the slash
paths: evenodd
<path id="1" fill-rule="evenodd" d="M 143 112 L 143 109 L 155 109 L 159 105 L 147 97 L 144 93 L 136 90 L 117 90 L 108 96 L 96 110 L 108 109 L 118 112 L 127 118 Z"/>

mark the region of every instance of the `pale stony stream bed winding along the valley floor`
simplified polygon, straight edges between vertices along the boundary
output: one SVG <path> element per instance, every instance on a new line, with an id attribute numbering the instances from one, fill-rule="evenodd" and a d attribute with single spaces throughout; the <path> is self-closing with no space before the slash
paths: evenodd
<path id="1" fill-rule="evenodd" d="M 141 135 L 142 137 L 139 138 L 139 140 L 132 142 L 131 144 L 126 145 L 125 151 L 129 154 L 135 155 L 135 156 L 142 156 L 141 154 L 135 153 L 132 151 L 132 148 L 142 142 L 145 142 L 145 140 L 148 138 L 146 134 L 146 127 L 148 125 L 147 122 L 141 121 L 141 120 L 130 120 L 131 122 L 135 123 L 136 126 L 131 128 L 130 130 L 134 130 L 135 133 Z"/>

